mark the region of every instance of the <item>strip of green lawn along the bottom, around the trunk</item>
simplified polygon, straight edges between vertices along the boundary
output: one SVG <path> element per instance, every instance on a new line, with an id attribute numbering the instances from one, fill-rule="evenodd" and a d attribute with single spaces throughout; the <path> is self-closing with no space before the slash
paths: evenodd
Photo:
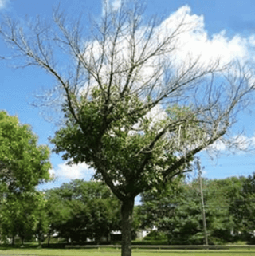
<path id="1" fill-rule="evenodd" d="M 12 255 L 51 255 L 51 256 L 73 256 L 73 255 L 80 255 L 80 256 L 111 256 L 111 255 L 120 255 L 120 249 L 118 250 L 112 250 L 112 249 L 100 249 L 100 250 L 82 250 L 82 249 L 8 249 L 8 250 L 0 250 L 0 256 L 6 255 L 6 254 L 12 254 Z M 172 250 L 170 251 L 159 251 L 159 250 L 147 250 L 147 251 L 139 251 L 139 250 L 133 250 L 133 256 L 248 256 L 253 255 L 255 256 L 255 250 L 240 250 L 240 249 L 234 249 L 234 250 Z"/>

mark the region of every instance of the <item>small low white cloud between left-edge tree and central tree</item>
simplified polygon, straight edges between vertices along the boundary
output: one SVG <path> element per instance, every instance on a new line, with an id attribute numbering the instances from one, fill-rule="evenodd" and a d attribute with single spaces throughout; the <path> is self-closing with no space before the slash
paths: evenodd
<path id="1" fill-rule="evenodd" d="M 90 179 L 95 173 L 95 170 L 89 168 L 86 163 L 73 164 L 71 166 L 66 163 L 60 163 L 57 165 L 56 170 L 49 171 L 51 175 L 56 178 L 65 177 L 68 179 Z"/>

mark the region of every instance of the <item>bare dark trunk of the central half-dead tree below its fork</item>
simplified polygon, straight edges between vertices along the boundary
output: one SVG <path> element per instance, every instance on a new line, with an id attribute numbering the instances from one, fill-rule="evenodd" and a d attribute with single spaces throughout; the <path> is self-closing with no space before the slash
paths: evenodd
<path id="1" fill-rule="evenodd" d="M 121 206 L 122 245 L 121 256 L 131 256 L 131 223 L 135 199 L 125 199 Z"/>

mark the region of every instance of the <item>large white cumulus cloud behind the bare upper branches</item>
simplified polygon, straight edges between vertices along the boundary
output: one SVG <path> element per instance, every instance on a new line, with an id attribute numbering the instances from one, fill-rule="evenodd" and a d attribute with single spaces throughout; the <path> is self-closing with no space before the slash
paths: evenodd
<path id="1" fill-rule="evenodd" d="M 106 0 L 105 6 L 111 6 L 113 10 L 118 10 L 121 5 L 121 0 Z M 106 8 L 104 6 L 104 8 Z M 182 26 L 180 26 L 182 24 Z M 144 50 L 144 45 L 147 45 L 147 37 L 144 36 L 147 31 L 147 26 L 141 26 L 135 34 L 137 45 L 135 61 L 138 61 L 140 54 Z M 175 30 L 178 33 L 175 33 Z M 203 69 L 208 69 L 208 66 L 212 63 L 217 63 L 220 60 L 220 67 L 225 66 L 231 61 L 239 60 L 242 63 L 251 59 L 250 50 L 255 45 L 255 37 L 241 37 L 236 35 L 234 37 L 227 37 L 225 31 L 221 33 L 215 33 L 210 36 L 205 29 L 205 21 L 202 15 L 193 14 L 190 6 L 182 6 L 179 10 L 170 14 L 159 26 L 155 27 L 155 33 L 151 35 L 151 42 L 147 45 L 144 56 L 149 55 L 151 51 L 155 50 L 158 45 L 162 44 L 167 37 L 171 37 L 170 45 L 167 45 L 169 49 L 166 49 L 164 56 L 156 54 L 147 60 L 146 65 L 143 65 L 142 69 L 135 72 L 135 85 L 132 89 L 142 88 L 144 84 L 153 83 L 155 74 L 159 72 L 159 67 L 170 65 L 171 73 L 176 73 L 176 79 L 181 76 L 180 72 L 185 73 L 186 69 L 189 69 L 190 65 L 197 62 L 195 65 L 196 70 L 202 72 Z M 103 83 L 108 84 L 109 76 L 113 68 L 113 72 L 116 76 L 113 76 L 113 82 L 116 85 L 124 85 L 125 75 L 118 76 L 121 72 L 127 69 L 127 63 L 130 63 L 131 56 L 131 35 L 126 34 L 124 37 L 120 37 L 116 41 L 116 61 L 113 63 L 113 67 L 109 65 L 108 60 L 111 59 L 112 38 L 108 37 L 104 43 L 104 49 L 99 41 L 88 41 L 88 50 L 84 57 L 91 59 L 89 54 L 93 54 L 92 59 L 95 60 L 95 70 L 99 70 L 96 65 L 101 63 L 100 57 L 102 54 L 108 55 L 108 58 L 104 58 L 104 65 L 100 67 L 100 77 Z M 168 53 L 166 53 L 168 50 Z M 89 61 L 88 61 L 89 62 Z M 196 72 L 194 70 L 194 73 Z M 163 72 L 163 69 L 160 71 Z M 233 70 L 234 72 L 234 70 Z M 173 76 L 175 77 L 175 76 Z M 182 76 L 181 76 L 182 77 Z M 162 75 L 158 77 L 158 85 L 164 85 L 165 77 Z M 184 79 L 184 78 L 183 78 Z M 255 80 L 254 80 L 255 82 Z M 90 80 L 90 89 L 93 84 L 96 85 L 96 81 Z M 159 89 L 155 86 L 155 89 Z M 85 92 L 85 88 L 83 88 Z M 160 90 L 160 89 L 159 89 Z"/>

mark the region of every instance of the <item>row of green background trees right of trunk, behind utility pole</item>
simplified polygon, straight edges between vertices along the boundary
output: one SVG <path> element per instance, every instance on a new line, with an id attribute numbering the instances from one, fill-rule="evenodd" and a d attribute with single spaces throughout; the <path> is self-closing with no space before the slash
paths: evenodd
<path id="1" fill-rule="evenodd" d="M 255 175 L 202 179 L 202 185 L 209 243 L 254 242 Z M 165 238 L 169 244 L 203 244 L 200 193 L 198 179 L 190 183 L 175 180 L 161 193 L 143 193 L 139 208 L 141 227 L 157 228 L 147 239 Z"/>

